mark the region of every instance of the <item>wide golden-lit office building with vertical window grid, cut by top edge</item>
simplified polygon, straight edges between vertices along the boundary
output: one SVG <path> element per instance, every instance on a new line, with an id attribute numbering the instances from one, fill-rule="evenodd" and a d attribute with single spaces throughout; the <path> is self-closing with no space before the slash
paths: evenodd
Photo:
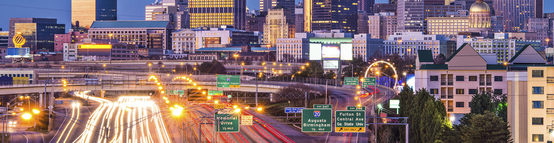
<path id="1" fill-rule="evenodd" d="M 188 12 L 189 28 L 232 25 L 244 30 L 246 27 L 246 0 L 189 0 Z"/>

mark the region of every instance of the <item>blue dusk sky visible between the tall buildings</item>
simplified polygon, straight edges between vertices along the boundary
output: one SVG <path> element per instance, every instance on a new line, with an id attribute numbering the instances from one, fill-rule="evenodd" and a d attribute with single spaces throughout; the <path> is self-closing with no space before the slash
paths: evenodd
<path id="1" fill-rule="evenodd" d="M 155 0 L 118 0 L 117 20 L 144 20 L 144 6 Z M 250 10 L 259 9 L 259 0 L 246 0 Z M 295 0 L 296 4 L 302 0 Z M 375 3 L 387 3 L 387 0 L 376 0 Z M 10 6 L 6 6 L 10 5 Z M 552 13 L 554 1 L 544 1 L 544 12 Z M 7 31 L 9 18 L 55 18 L 59 24 L 65 24 L 66 31 L 71 27 L 71 0 L 0 0 L 0 28 Z"/>

